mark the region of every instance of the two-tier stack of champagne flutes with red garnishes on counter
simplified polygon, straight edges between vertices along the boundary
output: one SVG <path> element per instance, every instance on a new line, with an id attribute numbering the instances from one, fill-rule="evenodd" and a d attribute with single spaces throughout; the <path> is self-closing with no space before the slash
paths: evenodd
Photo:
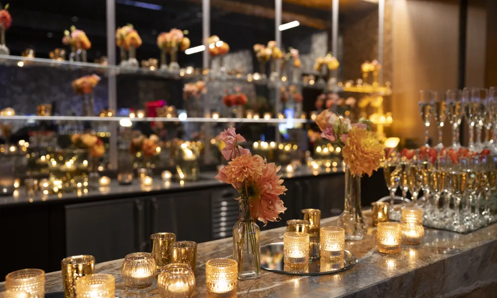
<path id="1" fill-rule="evenodd" d="M 400 220 L 400 210 L 393 203 L 396 192 L 401 190 L 401 208 L 408 204 L 423 208 L 426 226 L 466 233 L 496 222 L 496 88 L 445 93 L 423 90 L 419 110 L 425 127 L 424 146 L 392 152 L 385 159 L 390 219 Z M 468 125 L 468 147 L 459 142 L 463 120 Z M 437 142 L 430 148 L 428 128 L 434 123 L 438 127 Z M 452 142 L 445 148 L 442 127 L 448 124 Z M 408 193 L 411 200 L 407 199 Z"/>

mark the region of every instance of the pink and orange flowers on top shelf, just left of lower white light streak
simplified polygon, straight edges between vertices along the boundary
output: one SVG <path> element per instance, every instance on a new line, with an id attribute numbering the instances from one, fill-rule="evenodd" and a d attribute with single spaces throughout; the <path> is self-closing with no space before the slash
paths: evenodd
<path id="1" fill-rule="evenodd" d="M 181 51 L 185 51 L 190 47 L 190 39 L 185 35 L 188 30 L 181 31 L 173 28 L 169 32 L 162 32 L 157 36 L 157 46 L 161 49 L 161 69 L 167 69 L 166 54 L 171 56 L 169 63 L 170 70 L 179 70 L 177 63 L 178 47 Z"/>

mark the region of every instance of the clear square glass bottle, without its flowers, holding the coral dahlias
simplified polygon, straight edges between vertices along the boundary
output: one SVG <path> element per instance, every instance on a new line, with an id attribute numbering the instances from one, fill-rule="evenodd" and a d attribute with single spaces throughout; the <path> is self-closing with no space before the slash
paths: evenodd
<path id="1" fill-rule="evenodd" d="M 249 200 L 239 199 L 238 222 L 233 227 L 233 259 L 238 262 L 238 279 L 260 277 L 260 229 L 250 216 Z"/>

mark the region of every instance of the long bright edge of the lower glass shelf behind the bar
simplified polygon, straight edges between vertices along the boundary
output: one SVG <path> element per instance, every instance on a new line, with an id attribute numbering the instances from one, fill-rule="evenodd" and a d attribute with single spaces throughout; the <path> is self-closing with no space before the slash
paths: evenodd
<path id="1" fill-rule="evenodd" d="M 16 116 L 0 116 L 0 120 L 27 120 L 27 121 L 116 121 L 131 120 L 132 122 L 202 122 L 202 123 L 312 123 L 314 121 L 308 119 L 248 119 L 248 118 L 200 118 L 191 117 L 180 119 L 178 117 L 145 117 L 145 118 L 129 118 L 129 117 L 89 117 L 89 116 L 31 116 L 31 115 L 16 115 Z"/>

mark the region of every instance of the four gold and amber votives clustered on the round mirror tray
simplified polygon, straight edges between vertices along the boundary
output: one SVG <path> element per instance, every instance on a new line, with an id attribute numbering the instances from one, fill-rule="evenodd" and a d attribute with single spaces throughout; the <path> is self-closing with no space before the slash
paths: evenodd
<path id="1" fill-rule="evenodd" d="M 285 265 L 304 266 L 312 258 L 311 238 L 319 237 L 322 259 L 340 261 L 344 257 L 345 230 L 337 226 L 320 227 L 321 211 L 304 209 L 303 220 L 287 221 L 287 232 L 283 235 L 283 261 Z"/>

